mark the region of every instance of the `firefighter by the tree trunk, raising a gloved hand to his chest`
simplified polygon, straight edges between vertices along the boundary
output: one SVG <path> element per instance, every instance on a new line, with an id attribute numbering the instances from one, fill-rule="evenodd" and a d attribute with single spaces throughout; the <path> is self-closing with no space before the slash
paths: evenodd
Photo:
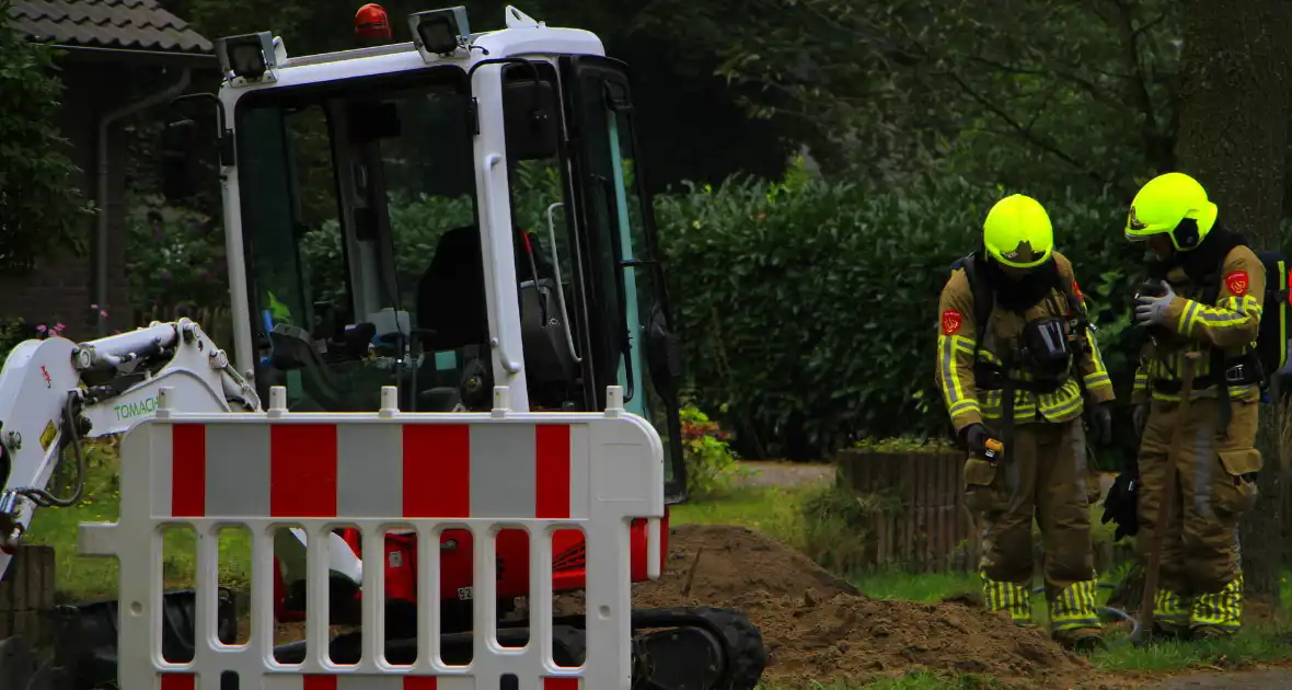
<path id="1" fill-rule="evenodd" d="M 1216 204 L 1202 185 L 1182 173 L 1159 176 L 1140 190 L 1125 236 L 1147 243 L 1156 257 L 1149 262 L 1154 288 L 1141 291 L 1134 310 L 1136 326 L 1150 336 L 1132 392 L 1141 434 L 1136 518 L 1145 534 L 1159 523 L 1163 482 L 1176 482 L 1154 601 L 1155 632 L 1233 634 L 1243 597 L 1238 522 L 1256 501 L 1253 479 L 1262 465 L 1253 447 L 1261 381 L 1255 341 L 1265 270 L 1243 238 L 1217 221 Z M 1189 351 L 1203 357 L 1195 364 L 1187 419 L 1181 419 Z M 1176 433 L 1183 434 L 1183 451 L 1173 459 Z"/>

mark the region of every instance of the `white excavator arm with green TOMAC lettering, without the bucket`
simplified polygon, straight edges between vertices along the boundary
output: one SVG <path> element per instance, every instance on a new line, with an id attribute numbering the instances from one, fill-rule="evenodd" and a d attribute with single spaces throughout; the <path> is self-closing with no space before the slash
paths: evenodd
<path id="1" fill-rule="evenodd" d="M 0 575 L 37 508 L 81 499 L 80 439 L 119 434 L 152 416 L 162 386 L 191 411 L 258 411 L 256 389 L 189 319 L 154 322 L 127 333 L 72 342 L 27 340 L 0 371 Z M 63 451 L 76 459 L 72 494 L 45 490 Z"/>

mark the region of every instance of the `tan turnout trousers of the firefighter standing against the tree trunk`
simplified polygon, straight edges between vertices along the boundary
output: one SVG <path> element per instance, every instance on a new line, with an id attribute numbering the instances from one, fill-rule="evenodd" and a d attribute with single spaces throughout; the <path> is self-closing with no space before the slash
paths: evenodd
<path id="1" fill-rule="evenodd" d="M 1255 448 L 1258 402 L 1233 401 L 1227 429 L 1217 429 L 1218 404 L 1214 398 L 1195 399 L 1187 419 L 1181 419 L 1180 403 L 1152 401 L 1140 446 L 1137 543 L 1145 559 L 1160 519 L 1162 486 L 1174 485 L 1154 601 L 1154 620 L 1172 633 L 1239 628 L 1238 523 L 1257 497 L 1255 473 L 1262 466 L 1261 451 Z M 1176 433 L 1183 434 L 1178 459 L 1169 457 Z"/>

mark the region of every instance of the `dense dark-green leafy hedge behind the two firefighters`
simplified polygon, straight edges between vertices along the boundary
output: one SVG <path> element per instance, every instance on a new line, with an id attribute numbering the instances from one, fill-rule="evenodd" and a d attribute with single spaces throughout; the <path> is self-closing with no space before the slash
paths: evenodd
<path id="1" fill-rule="evenodd" d="M 944 178 L 871 194 L 796 176 L 659 199 L 702 407 L 730 410 L 747 454 L 814 456 L 857 437 L 943 433 L 933 379 L 938 296 L 990 205 L 1014 191 L 1028 193 Z M 1125 390 L 1140 255 L 1120 234 L 1124 205 L 1037 196 Z"/>

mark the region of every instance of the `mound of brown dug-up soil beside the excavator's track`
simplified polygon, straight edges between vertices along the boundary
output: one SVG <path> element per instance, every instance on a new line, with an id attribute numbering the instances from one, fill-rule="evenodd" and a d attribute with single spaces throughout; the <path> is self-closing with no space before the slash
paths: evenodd
<path id="1" fill-rule="evenodd" d="M 581 603 L 578 596 L 561 597 L 557 609 L 576 612 Z M 801 553 L 744 527 L 674 527 L 665 572 L 633 587 L 633 606 L 743 610 L 767 647 L 765 678 L 792 686 L 859 684 L 921 667 L 1035 687 L 1058 687 L 1058 677 L 1090 673 L 1087 662 L 1066 654 L 1044 631 L 1017 628 L 960 602 L 871 600 Z"/>

